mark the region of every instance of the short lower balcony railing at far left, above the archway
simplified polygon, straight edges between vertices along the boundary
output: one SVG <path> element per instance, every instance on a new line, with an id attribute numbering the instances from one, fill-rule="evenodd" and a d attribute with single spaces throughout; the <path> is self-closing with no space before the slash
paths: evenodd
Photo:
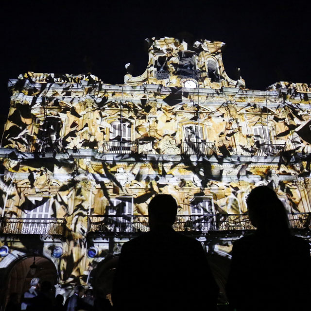
<path id="1" fill-rule="evenodd" d="M 6 218 L 0 220 L 1 234 L 64 235 L 66 220 L 60 218 Z"/>

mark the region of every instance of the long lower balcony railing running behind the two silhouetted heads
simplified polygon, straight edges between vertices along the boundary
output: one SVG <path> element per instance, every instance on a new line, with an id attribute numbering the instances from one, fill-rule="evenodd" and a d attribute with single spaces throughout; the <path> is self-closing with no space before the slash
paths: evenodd
<path id="1" fill-rule="evenodd" d="M 311 213 L 289 214 L 293 229 L 311 229 Z M 177 215 L 175 231 L 207 232 L 254 230 L 246 214 Z M 88 216 L 87 231 L 90 233 L 138 233 L 149 231 L 148 216 L 102 215 Z"/>

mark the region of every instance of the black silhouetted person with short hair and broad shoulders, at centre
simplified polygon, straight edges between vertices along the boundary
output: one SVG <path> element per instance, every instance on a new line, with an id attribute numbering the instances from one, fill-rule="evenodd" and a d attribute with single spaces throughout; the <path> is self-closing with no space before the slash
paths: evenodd
<path id="1" fill-rule="evenodd" d="M 115 310 L 216 310 L 218 286 L 201 243 L 172 228 L 177 208 L 171 195 L 156 195 L 148 206 L 150 231 L 123 244 Z"/>

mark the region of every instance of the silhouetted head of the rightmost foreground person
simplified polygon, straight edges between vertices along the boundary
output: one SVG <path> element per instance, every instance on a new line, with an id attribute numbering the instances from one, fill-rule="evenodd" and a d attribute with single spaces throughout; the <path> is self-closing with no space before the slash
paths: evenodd
<path id="1" fill-rule="evenodd" d="M 289 232 L 285 207 L 274 190 L 267 186 L 256 187 L 248 195 L 246 203 L 252 225 L 266 232 Z"/>

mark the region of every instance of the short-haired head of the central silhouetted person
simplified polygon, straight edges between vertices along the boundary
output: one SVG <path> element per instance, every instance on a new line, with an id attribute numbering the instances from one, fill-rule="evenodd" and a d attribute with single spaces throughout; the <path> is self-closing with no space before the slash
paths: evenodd
<path id="1" fill-rule="evenodd" d="M 177 215 L 176 200 L 170 194 L 157 194 L 148 205 L 149 226 L 171 227 Z"/>

